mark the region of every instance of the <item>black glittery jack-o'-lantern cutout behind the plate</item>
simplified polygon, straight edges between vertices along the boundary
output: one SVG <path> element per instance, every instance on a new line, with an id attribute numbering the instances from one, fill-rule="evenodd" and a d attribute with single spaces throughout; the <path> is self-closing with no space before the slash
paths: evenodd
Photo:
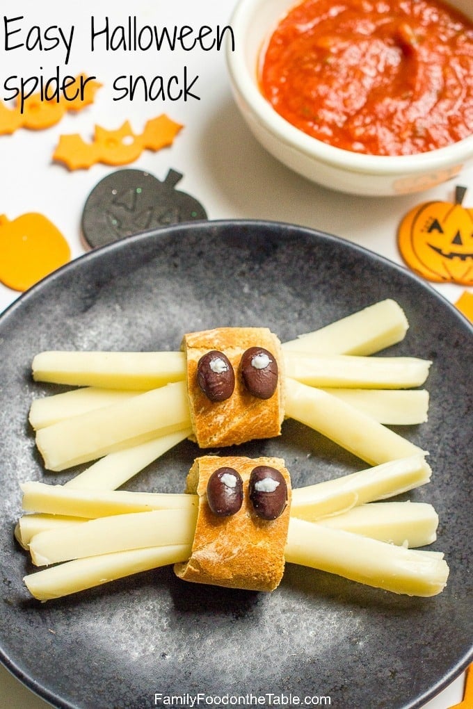
<path id="1" fill-rule="evenodd" d="M 87 247 L 110 244 L 161 226 L 206 219 L 199 201 L 175 186 L 182 174 L 169 169 L 164 181 L 149 172 L 116 170 L 89 194 L 82 213 Z"/>

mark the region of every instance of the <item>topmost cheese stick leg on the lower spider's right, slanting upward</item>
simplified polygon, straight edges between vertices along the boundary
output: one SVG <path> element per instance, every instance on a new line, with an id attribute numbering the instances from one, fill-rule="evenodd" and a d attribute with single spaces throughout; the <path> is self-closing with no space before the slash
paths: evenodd
<path id="1" fill-rule="evenodd" d="M 432 471 L 415 454 L 293 490 L 291 515 L 316 521 L 357 505 L 384 500 L 430 481 Z"/>

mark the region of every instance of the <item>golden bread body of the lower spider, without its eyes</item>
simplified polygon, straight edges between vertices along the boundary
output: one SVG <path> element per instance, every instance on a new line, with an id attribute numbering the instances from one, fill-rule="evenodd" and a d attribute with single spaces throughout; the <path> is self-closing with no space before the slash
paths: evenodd
<path id="1" fill-rule="evenodd" d="M 257 517 L 248 495 L 253 468 L 269 465 L 284 476 L 288 503 L 275 520 Z M 228 466 L 243 479 L 243 505 L 230 517 L 218 517 L 207 503 L 207 482 L 213 471 Z M 199 495 L 196 532 L 188 562 L 175 564 L 174 571 L 184 581 L 274 591 L 284 573 L 284 548 L 289 527 L 291 480 L 281 458 L 218 457 L 197 458 L 187 476 L 187 493 Z"/>

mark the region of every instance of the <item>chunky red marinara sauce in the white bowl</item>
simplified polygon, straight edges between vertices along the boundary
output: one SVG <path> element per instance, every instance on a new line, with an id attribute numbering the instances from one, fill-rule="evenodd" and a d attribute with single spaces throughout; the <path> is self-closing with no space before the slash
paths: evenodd
<path id="1" fill-rule="evenodd" d="M 473 22 L 439 0 L 305 0 L 269 38 L 260 89 L 345 150 L 450 145 L 473 133 Z"/>

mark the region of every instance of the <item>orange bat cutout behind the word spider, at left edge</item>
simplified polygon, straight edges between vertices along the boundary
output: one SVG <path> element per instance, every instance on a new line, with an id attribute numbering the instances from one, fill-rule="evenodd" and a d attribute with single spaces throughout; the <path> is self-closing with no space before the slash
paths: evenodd
<path id="1" fill-rule="evenodd" d="M 59 123 L 67 111 L 82 111 L 82 108 L 94 101 L 96 91 L 102 84 L 87 78 L 85 74 L 79 74 L 75 82 L 82 89 L 77 89 L 77 96 L 72 101 L 64 98 L 60 101 L 42 100 L 41 94 L 33 94 L 24 99 L 23 112 L 19 104 L 14 108 L 7 108 L 6 104 L 0 103 L 0 135 L 11 135 L 18 128 L 50 128 L 51 125 Z M 72 89 L 70 90 L 72 94 Z"/>

